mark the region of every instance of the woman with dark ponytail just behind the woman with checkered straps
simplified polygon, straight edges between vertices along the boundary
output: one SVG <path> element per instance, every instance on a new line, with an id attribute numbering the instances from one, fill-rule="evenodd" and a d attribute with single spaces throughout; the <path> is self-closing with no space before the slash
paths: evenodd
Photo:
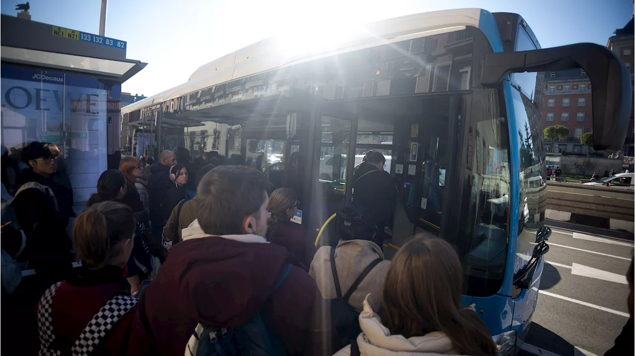
<path id="1" fill-rule="evenodd" d="M 151 239 L 149 233 L 149 216 L 145 210 L 135 212 L 133 207 L 123 200 L 128 193 L 128 182 L 122 172 L 116 169 L 109 169 L 102 173 L 97 180 L 97 193 L 91 194 L 86 202 L 86 208 L 102 203 L 104 201 L 116 201 L 123 203 L 130 208 L 132 217 L 137 221 L 135 225 L 135 248 L 128 261 L 128 275 L 126 279 L 130 283 L 130 293 L 138 291 L 141 281 L 148 279 L 152 272 L 152 262 L 150 260 Z"/>

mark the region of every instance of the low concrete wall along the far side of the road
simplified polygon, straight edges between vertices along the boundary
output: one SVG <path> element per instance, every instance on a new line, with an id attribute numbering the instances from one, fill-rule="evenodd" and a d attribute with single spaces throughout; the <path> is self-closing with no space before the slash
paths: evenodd
<path id="1" fill-rule="evenodd" d="M 635 191 L 550 181 L 545 217 L 635 232 Z"/>

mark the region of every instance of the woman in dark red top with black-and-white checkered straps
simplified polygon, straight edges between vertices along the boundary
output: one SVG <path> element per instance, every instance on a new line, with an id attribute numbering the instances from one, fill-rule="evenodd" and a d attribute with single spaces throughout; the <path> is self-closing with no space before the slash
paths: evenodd
<path id="1" fill-rule="evenodd" d="M 135 226 L 130 207 L 114 201 L 92 205 L 77 217 L 73 242 L 82 266 L 39 300 L 41 355 L 125 352 L 137 300 L 121 286 Z"/>

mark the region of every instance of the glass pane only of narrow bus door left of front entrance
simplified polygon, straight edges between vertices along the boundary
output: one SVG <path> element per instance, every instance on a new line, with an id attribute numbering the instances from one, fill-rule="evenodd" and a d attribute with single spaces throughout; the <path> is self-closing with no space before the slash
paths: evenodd
<path id="1" fill-rule="evenodd" d="M 351 143 L 351 120 L 321 115 L 319 129 L 316 131 L 316 141 L 319 142 L 318 169 L 314 169 L 314 176 L 318 184 L 315 185 L 314 210 L 312 210 L 320 228 L 326 220 L 344 207 L 346 193 L 346 173 L 349 160 L 349 144 Z M 315 166 L 314 166 L 315 167 Z M 334 232 L 330 224 L 330 232 Z M 331 241 L 327 232 L 321 236 L 322 245 L 335 243 Z"/>

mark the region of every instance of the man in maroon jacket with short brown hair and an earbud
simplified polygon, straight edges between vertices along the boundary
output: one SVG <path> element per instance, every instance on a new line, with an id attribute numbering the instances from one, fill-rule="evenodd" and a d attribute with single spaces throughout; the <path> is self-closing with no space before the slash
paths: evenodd
<path id="1" fill-rule="evenodd" d="M 267 243 L 267 177 L 221 166 L 201 180 L 197 220 L 138 303 L 128 354 L 183 355 L 198 323 L 236 327 L 261 312 L 290 355 L 322 354 L 322 298 L 286 248 Z M 276 282 L 289 263 L 283 283 Z M 330 351 L 330 350 L 329 350 Z"/>

